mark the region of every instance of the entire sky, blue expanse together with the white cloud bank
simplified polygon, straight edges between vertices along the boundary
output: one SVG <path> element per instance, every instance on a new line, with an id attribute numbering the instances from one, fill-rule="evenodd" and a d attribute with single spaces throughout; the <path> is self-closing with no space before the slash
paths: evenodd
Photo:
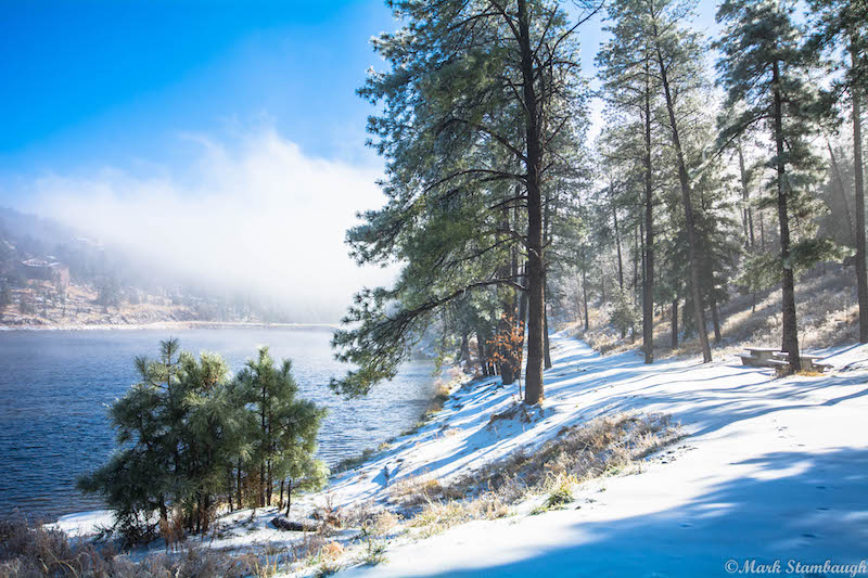
<path id="1" fill-rule="evenodd" d="M 5 0 L 0 205 L 138 262 L 334 321 L 394 267 L 357 268 L 356 211 L 384 197 L 355 94 L 384 63 L 380 0 Z M 714 8 L 700 10 L 700 26 Z M 600 20 L 580 30 L 592 75 Z M 599 117 L 599 105 L 596 106 Z M 598 123 L 599 125 L 599 123 Z M 299 272 L 304 277 L 299 278 Z"/>

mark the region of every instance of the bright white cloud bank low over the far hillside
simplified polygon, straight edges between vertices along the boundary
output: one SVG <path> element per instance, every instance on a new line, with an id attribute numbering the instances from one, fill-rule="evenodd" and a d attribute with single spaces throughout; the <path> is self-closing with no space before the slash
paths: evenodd
<path id="1" fill-rule="evenodd" d="M 139 177 L 107 168 L 34 184 L 35 213 L 135 251 L 167 270 L 253 290 L 336 320 L 362 285 L 393 273 L 358 268 L 344 235 L 356 211 L 382 205 L 380 169 L 306 156 L 273 129 L 201 146 L 188 170 Z"/>

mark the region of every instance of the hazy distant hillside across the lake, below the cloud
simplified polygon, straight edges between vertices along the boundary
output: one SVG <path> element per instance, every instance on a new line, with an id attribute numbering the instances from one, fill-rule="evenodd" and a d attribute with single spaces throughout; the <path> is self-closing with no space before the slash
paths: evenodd
<path id="1" fill-rule="evenodd" d="M 250 295 L 209 294 L 54 221 L 0 208 L 0 326 L 292 322 Z"/>

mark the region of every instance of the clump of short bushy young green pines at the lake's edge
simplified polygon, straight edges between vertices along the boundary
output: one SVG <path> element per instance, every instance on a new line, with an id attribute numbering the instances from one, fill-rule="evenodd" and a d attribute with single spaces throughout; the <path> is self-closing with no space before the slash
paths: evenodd
<path id="1" fill-rule="evenodd" d="M 289 361 L 275 367 L 264 348 L 230 378 L 220 356 L 196 359 L 168 339 L 136 368 L 140 382 L 110 410 L 118 450 L 78 483 L 105 499 L 127 543 L 152 539 L 173 510 L 207 531 L 220 503 L 243 505 L 242 479 L 259 481 L 256 504 L 270 500 L 272 476 L 296 490 L 324 483 L 314 459 L 324 410 L 296 396 Z"/>

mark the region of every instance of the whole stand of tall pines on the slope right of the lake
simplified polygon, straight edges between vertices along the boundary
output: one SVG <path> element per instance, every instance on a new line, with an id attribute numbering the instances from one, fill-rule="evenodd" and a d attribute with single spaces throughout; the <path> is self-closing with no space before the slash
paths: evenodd
<path id="1" fill-rule="evenodd" d="M 348 243 L 405 266 L 349 309 L 334 345 L 359 369 L 336 389 L 393 376 L 425 332 L 505 384 L 523 368 L 529 404 L 556 322 L 646 363 L 752 339 L 799 372 L 806 346 L 868 342 L 865 7 L 727 0 L 707 38 L 692 2 L 574 4 L 394 3 L 390 66 L 359 90 L 388 200 Z"/>

